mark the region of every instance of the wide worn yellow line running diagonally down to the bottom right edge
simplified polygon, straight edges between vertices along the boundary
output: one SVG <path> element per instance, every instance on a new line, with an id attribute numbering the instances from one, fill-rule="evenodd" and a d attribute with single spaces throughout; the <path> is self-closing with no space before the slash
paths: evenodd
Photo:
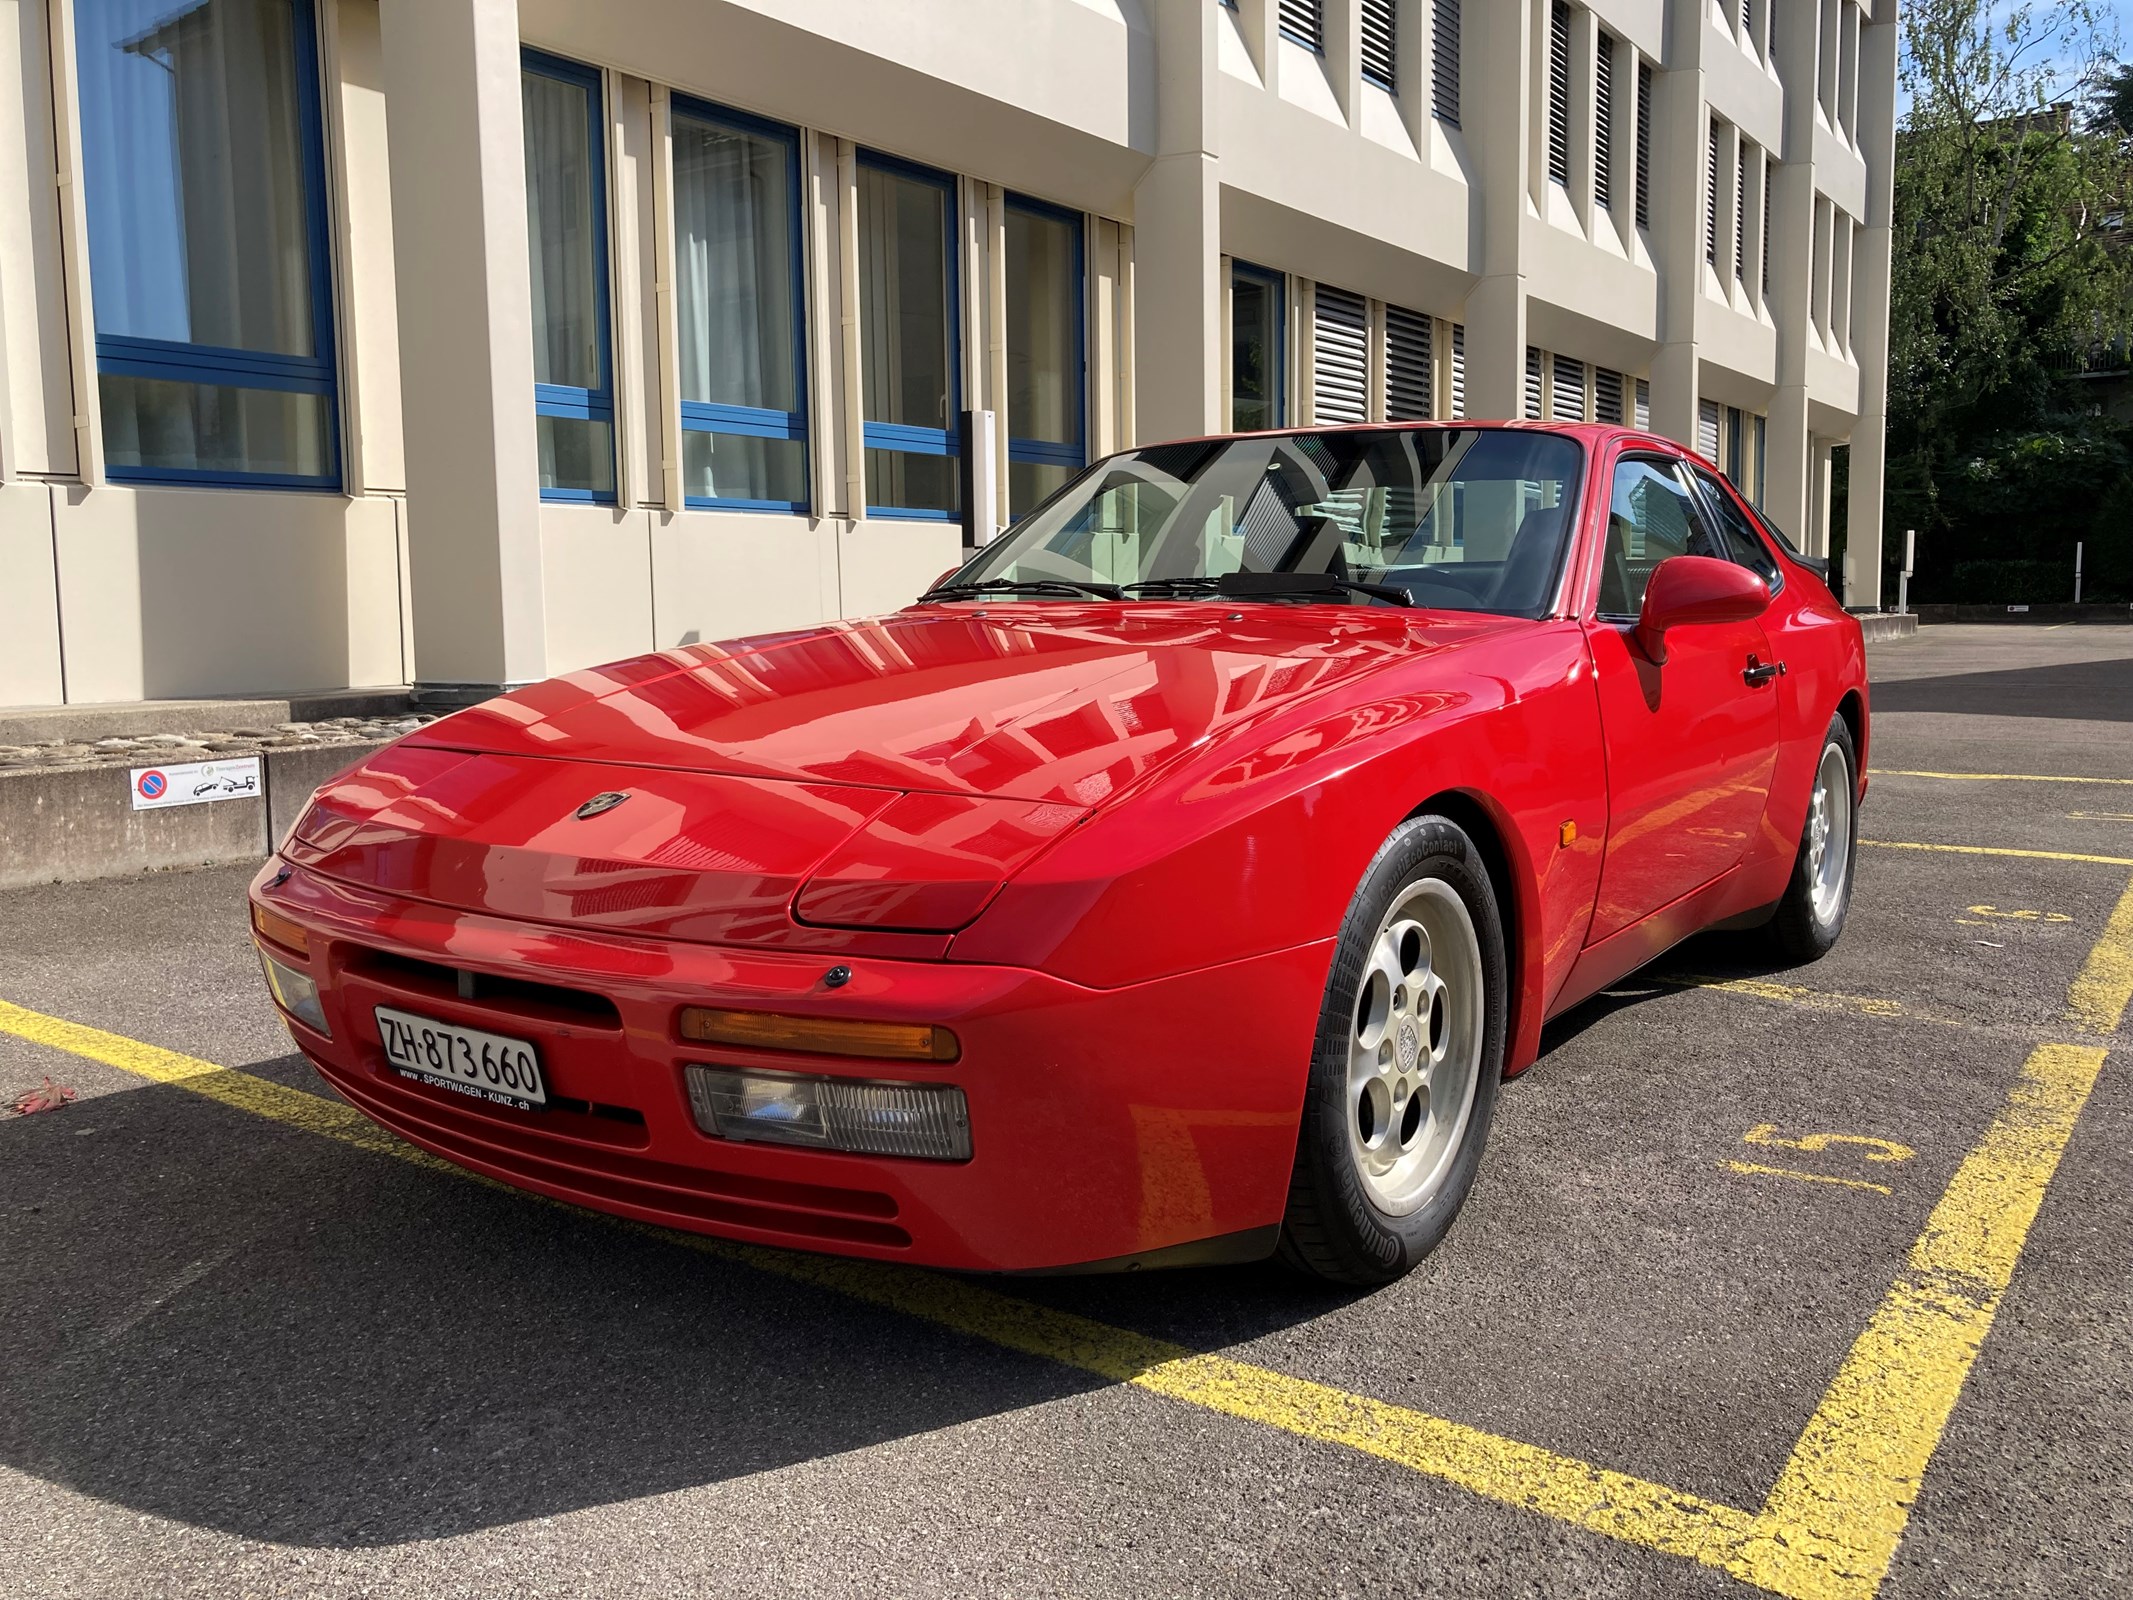
<path id="1" fill-rule="evenodd" d="M 2095 1047 L 2031 1052 L 1807 1423 L 1734 1577 L 1794 1600 L 1866 1600 L 1881 1587 L 2101 1067 Z"/>

